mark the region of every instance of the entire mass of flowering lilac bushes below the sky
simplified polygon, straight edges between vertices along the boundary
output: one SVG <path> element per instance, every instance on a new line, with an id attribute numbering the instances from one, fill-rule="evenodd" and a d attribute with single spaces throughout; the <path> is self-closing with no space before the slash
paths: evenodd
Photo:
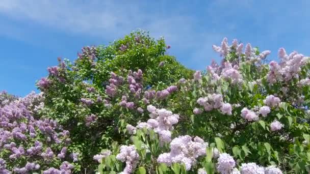
<path id="1" fill-rule="evenodd" d="M 1 98 L 6 103 L 0 112 L 0 147 L 6 150 L 0 169 L 310 171 L 308 57 L 280 48 L 280 63 L 269 62 L 270 51 L 250 44 L 243 51 L 242 43 L 228 45 L 224 38 L 221 46 L 213 45 L 221 64 L 213 62 L 201 73 L 165 54 L 169 48 L 163 39 L 135 32 L 109 46 L 83 48 L 74 63 L 59 59 L 37 83 L 40 95 Z M 28 150 L 36 140 L 42 150 L 32 155 Z M 54 155 L 46 159 L 49 153 Z M 11 158 L 16 154 L 18 166 Z"/>

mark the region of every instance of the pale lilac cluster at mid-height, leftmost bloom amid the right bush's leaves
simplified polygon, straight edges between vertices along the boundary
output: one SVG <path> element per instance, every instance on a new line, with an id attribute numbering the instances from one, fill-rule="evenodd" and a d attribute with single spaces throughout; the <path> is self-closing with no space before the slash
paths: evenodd
<path id="1" fill-rule="evenodd" d="M 223 102 L 223 96 L 221 94 L 209 94 L 207 97 L 200 97 L 197 100 L 197 103 L 200 106 L 204 107 L 205 111 L 210 111 L 212 109 L 219 109 L 223 114 L 231 115 L 231 105 L 229 103 Z M 194 113 L 199 111 L 196 109 L 194 110 Z"/>

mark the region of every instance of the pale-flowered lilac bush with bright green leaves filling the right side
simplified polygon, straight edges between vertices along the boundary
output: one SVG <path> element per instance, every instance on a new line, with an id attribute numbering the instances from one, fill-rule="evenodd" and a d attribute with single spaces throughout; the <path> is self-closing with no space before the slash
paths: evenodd
<path id="1" fill-rule="evenodd" d="M 176 89 L 173 95 L 168 89 L 145 92 L 147 106 L 140 107 L 149 118 L 126 125 L 131 136 L 125 142 L 139 158 L 130 170 L 125 165 L 117 171 L 309 172 L 309 58 L 280 48 L 281 62 L 268 63 L 271 51 L 251 44 L 243 51 L 242 43 L 229 45 L 227 38 L 213 49 L 223 56 L 221 64 L 181 78 L 168 88 Z M 112 159 L 101 161 L 98 171 L 110 171 L 106 161 Z"/>

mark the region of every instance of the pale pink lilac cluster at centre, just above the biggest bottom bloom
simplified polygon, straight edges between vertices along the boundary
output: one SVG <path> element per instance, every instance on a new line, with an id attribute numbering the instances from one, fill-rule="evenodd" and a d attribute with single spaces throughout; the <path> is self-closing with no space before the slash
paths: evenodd
<path id="1" fill-rule="evenodd" d="M 155 106 L 148 105 L 147 110 L 150 112 L 149 116 L 151 119 L 145 122 L 138 123 L 136 127 L 132 125 L 127 125 L 126 129 L 128 133 L 135 134 L 136 129 L 153 129 L 159 134 L 160 142 L 171 141 L 171 130 L 173 130 L 173 125 L 178 122 L 179 115 L 173 114 L 171 111 L 166 109 L 157 109 Z"/>

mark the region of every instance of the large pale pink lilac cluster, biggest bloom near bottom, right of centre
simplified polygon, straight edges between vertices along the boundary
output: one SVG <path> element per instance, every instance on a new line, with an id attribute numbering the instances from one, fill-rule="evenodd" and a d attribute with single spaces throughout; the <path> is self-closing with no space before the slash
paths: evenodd
<path id="1" fill-rule="evenodd" d="M 174 138 L 170 143 L 170 152 L 159 155 L 157 161 L 171 166 L 172 163 L 184 163 L 186 170 L 190 170 L 196 164 L 197 158 L 205 155 L 208 143 L 203 139 L 189 135 Z"/>

